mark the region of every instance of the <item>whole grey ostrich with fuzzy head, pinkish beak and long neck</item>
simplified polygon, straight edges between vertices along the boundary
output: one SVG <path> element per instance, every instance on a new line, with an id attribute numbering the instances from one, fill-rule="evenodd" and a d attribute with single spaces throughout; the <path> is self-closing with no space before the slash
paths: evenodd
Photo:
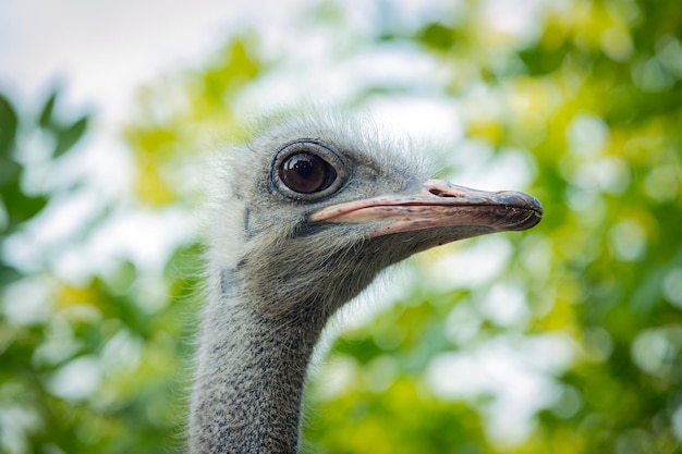
<path id="1" fill-rule="evenodd" d="M 293 454 L 307 365 L 329 318 L 386 267 L 456 240 L 526 230 L 540 204 L 429 180 L 373 127 L 307 114 L 235 150 L 212 210 L 193 454 Z"/>

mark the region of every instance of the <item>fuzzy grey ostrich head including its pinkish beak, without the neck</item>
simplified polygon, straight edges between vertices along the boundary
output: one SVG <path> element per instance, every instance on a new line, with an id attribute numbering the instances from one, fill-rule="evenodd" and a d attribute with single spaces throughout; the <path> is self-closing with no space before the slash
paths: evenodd
<path id="1" fill-rule="evenodd" d="M 255 299 L 279 302 L 266 309 L 275 317 L 320 305 L 328 317 L 417 251 L 541 219 L 532 196 L 428 180 L 391 144 L 354 133 L 280 128 L 236 157 L 227 199 L 240 214 L 232 268 Z"/>

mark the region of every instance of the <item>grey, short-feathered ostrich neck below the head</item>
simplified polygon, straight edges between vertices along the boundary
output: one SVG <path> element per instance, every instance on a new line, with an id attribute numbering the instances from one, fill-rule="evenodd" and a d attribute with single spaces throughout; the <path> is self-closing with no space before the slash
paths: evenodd
<path id="1" fill-rule="evenodd" d="M 272 320 L 264 302 L 224 279 L 202 323 L 190 452 L 296 453 L 306 369 L 324 319 Z"/>

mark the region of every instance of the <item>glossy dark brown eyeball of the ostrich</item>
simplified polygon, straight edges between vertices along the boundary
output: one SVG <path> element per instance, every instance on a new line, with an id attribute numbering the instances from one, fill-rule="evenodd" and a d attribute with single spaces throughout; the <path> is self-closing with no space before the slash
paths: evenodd
<path id="1" fill-rule="evenodd" d="M 337 172 L 317 155 L 300 152 L 282 163 L 281 177 L 296 193 L 312 194 L 324 191 L 334 181 Z"/>

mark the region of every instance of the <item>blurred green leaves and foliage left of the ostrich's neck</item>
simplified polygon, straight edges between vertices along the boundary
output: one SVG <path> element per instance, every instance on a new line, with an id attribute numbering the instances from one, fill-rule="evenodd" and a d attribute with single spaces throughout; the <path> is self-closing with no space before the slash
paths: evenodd
<path id="1" fill-rule="evenodd" d="M 56 119 L 57 101 L 54 91 L 32 118 L 0 97 L 0 251 L 63 195 L 31 194 L 23 180 L 31 137 L 42 138 L 45 156 L 56 163 L 86 131 L 88 116 Z M 175 251 L 163 277 L 168 298 L 194 292 L 195 274 L 178 269 L 196 270 L 197 257 L 196 250 Z M 184 380 L 172 378 L 185 370 L 186 344 L 175 339 L 190 338 L 186 307 L 143 310 L 138 272 L 129 261 L 85 285 L 60 281 L 49 266 L 17 269 L 5 255 L 0 265 L 0 452 L 151 453 L 175 443 L 182 402 L 169 395 L 183 394 Z M 80 381 L 83 375 L 95 377 L 96 390 Z"/>

